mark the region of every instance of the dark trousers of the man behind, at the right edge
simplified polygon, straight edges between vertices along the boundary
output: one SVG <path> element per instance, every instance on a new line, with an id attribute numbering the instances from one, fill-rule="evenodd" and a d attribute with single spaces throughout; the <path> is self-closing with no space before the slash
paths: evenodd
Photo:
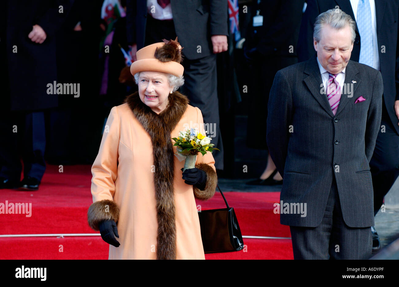
<path id="1" fill-rule="evenodd" d="M 385 126 L 383 132 L 381 126 Z M 399 136 L 389 118 L 385 102 L 382 103 L 380 130 L 370 161 L 374 190 L 374 215 L 377 214 L 385 195 L 399 175 Z"/>

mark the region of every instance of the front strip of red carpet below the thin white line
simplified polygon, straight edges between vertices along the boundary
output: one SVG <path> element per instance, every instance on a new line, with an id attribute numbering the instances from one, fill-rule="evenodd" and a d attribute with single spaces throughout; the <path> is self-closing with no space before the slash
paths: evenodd
<path id="1" fill-rule="evenodd" d="M 291 240 L 244 242 L 245 250 L 205 254 L 205 259 L 293 259 Z M 0 259 L 108 259 L 109 249 L 100 236 L 0 238 L 0 246 Z"/>

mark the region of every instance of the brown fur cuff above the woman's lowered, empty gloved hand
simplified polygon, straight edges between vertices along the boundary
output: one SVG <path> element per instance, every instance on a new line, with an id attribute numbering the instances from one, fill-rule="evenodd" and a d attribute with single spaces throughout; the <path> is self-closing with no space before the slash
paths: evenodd
<path id="1" fill-rule="evenodd" d="M 101 221 L 112 219 L 115 222 L 118 222 L 118 218 L 119 207 L 114 201 L 109 199 L 94 202 L 90 205 L 89 211 L 87 212 L 87 221 L 89 222 L 89 226 L 96 231 L 99 230 L 99 223 Z"/>

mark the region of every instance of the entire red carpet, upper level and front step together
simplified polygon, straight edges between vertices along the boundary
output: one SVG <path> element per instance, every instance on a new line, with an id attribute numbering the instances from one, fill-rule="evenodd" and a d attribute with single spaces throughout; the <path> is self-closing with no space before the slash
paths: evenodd
<path id="1" fill-rule="evenodd" d="M 92 203 L 89 165 L 48 165 L 39 191 L 0 191 L 0 202 L 31 203 L 31 216 L 1 214 L 0 234 L 95 233 L 87 224 L 87 208 Z M 279 193 L 226 192 L 244 236 L 290 237 L 288 226 L 273 213 Z M 198 201 L 201 208 L 223 208 L 217 192 L 210 201 Z M 207 254 L 207 259 L 292 259 L 290 240 L 244 239 L 246 252 Z M 63 252 L 59 252 L 59 245 Z M 107 259 L 108 245 L 101 237 L 0 238 L 0 259 Z"/>

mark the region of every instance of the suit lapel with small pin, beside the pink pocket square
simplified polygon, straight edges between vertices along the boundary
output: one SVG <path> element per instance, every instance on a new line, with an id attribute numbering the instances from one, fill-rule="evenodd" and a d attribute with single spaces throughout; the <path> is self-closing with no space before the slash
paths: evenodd
<path id="1" fill-rule="evenodd" d="M 354 61 L 349 61 L 348 65 L 346 65 L 346 70 L 345 70 L 345 81 L 344 85 L 341 87 L 341 99 L 340 99 L 340 104 L 338 105 L 338 110 L 336 112 L 336 116 L 340 114 L 340 112 L 345 108 L 346 104 L 351 101 L 351 99 L 354 100 L 354 94 L 356 91 L 356 88 L 358 88 L 361 78 L 359 77 L 359 69 L 356 67 L 356 64 Z"/>

